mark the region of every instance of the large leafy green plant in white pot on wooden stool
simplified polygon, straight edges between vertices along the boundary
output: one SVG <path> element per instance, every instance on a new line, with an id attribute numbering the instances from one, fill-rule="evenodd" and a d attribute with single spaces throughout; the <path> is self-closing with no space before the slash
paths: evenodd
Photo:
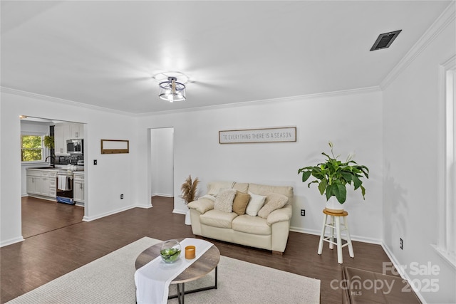
<path id="1" fill-rule="evenodd" d="M 302 174 L 302 182 L 306 182 L 309 177 L 314 177 L 314 180 L 309 182 L 307 185 L 309 188 L 311 184 L 318 184 L 318 190 L 320 194 L 326 195 L 326 202 L 331 206 L 327 206 L 326 209 L 330 209 L 333 212 L 343 211 L 341 204 L 345 203 L 347 198 L 347 184 L 352 185 L 354 189 L 361 189 L 363 199 L 365 199 L 366 189 L 363 187 L 362 178 L 369 178 L 369 169 L 366 166 L 357 164 L 352 158 L 352 155 L 348 155 L 345 162 L 338 159 L 338 156 L 334 156 L 333 143 L 328 142 L 331 147 L 331 156 L 322 152 L 326 157 L 326 162 L 316 164 L 316 166 L 304 167 L 298 170 L 298 174 Z M 336 208 L 338 206 L 339 208 Z M 336 203 L 336 206 L 331 203 Z"/>

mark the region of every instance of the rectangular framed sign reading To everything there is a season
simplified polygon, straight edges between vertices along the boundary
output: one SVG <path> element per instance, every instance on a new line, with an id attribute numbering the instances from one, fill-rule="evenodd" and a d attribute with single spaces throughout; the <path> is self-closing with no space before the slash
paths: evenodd
<path id="1" fill-rule="evenodd" d="M 296 142 L 296 127 L 219 131 L 220 144 L 254 142 Z"/>

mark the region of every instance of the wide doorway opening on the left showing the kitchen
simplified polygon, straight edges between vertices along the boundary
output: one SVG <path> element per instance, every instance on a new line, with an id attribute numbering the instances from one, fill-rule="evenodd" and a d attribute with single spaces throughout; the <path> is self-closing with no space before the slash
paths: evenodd
<path id="1" fill-rule="evenodd" d="M 83 221 L 88 205 L 86 147 L 67 153 L 67 140 L 83 142 L 86 125 L 21 116 L 21 229 L 24 239 Z M 64 178 L 64 179 L 63 179 Z M 64 182 L 63 182 L 64 181 Z M 75 188 L 76 186 L 76 188 Z M 61 193 L 68 204 L 59 200 Z M 71 197 L 70 197 L 71 196 Z M 58 202 L 61 201 L 61 202 Z"/>

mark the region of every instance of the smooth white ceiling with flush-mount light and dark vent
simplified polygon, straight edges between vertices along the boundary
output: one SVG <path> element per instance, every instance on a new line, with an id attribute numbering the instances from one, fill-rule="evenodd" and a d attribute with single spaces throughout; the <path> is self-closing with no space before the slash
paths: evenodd
<path id="1" fill-rule="evenodd" d="M 376 87 L 450 2 L 2 0 L 0 85 L 132 114 Z"/>

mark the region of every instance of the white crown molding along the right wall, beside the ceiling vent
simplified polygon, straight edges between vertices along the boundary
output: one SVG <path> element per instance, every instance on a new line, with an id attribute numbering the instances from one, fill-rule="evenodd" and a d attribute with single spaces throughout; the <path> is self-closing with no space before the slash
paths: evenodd
<path id="1" fill-rule="evenodd" d="M 410 48 L 410 51 L 408 51 L 407 54 L 399 61 L 399 63 L 393 68 L 393 70 L 386 75 L 386 77 L 382 80 L 380 83 L 380 88 L 382 90 L 385 90 L 385 88 L 390 85 L 395 78 L 400 75 L 400 73 L 405 70 L 405 68 L 412 63 L 415 58 L 417 58 L 421 52 L 429 46 L 429 44 L 437 37 L 439 34 L 447 27 L 449 26 L 452 22 L 455 21 L 455 16 L 456 16 L 456 2 L 452 1 L 450 5 L 447 6 L 445 11 L 440 14 L 440 16 L 437 18 L 434 23 L 432 23 L 432 26 L 430 28 L 427 28 L 427 31 L 421 36 L 420 39 L 418 39 L 417 43 L 415 43 L 412 48 Z"/>

